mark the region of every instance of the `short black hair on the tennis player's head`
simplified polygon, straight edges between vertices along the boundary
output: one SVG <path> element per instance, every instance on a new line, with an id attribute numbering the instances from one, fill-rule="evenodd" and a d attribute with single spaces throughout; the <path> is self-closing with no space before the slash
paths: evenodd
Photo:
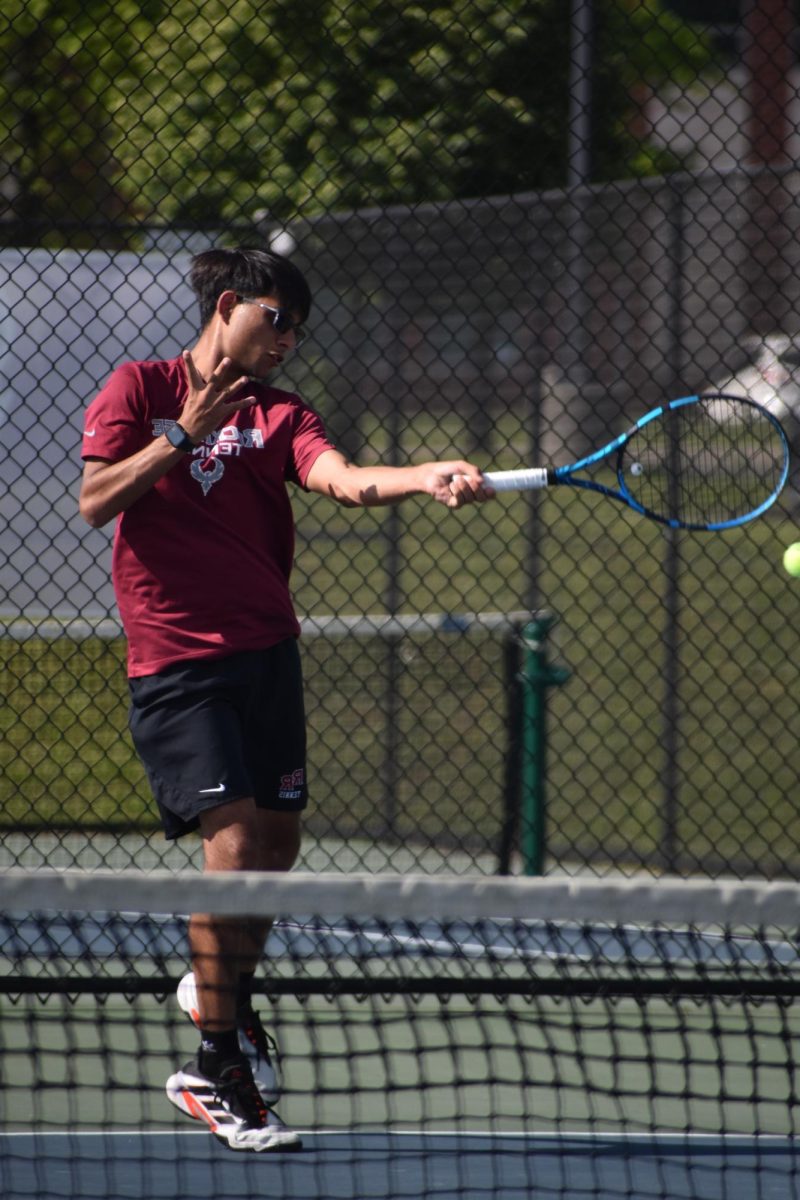
<path id="1" fill-rule="evenodd" d="M 192 259 L 190 283 L 200 304 L 201 329 L 213 317 L 223 292 L 236 292 L 248 299 L 273 295 L 300 322 L 307 320 L 311 312 L 311 288 L 305 275 L 271 250 L 247 246 L 206 250 Z"/>

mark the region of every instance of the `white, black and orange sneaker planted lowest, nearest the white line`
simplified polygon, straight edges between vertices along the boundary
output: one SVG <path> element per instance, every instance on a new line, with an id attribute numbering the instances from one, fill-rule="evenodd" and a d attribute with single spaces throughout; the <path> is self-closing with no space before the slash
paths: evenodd
<path id="1" fill-rule="evenodd" d="M 181 1112 L 204 1121 L 230 1150 L 261 1153 L 300 1150 L 302 1145 L 300 1135 L 264 1104 L 243 1055 L 215 1079 L 205 1075 L 197 1062 L 187 1062 L 167 1080 L 167 1096 Z"/>

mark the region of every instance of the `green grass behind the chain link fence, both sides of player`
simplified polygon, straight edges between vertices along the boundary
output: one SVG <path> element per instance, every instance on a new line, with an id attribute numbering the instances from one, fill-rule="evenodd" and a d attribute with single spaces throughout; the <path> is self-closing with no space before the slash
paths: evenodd
<path id="1" fill-rule="evenodd" d="M 385 611 L 391 514 L 299 496 L 297 518 L 299 611 Z M 658 862 L 668 534 L 570 490 L 463 512 L 411 500 L 399 534 L 403 611 L 533 604 L 559 617 L 551 654 L 571 678 L 548 694 L 552 852 Z M 800 865 L 800 587 L 780 566 L 796 536 L 776 508 L 739 530 L 679 539 L 674 828 L 687 869 L 722 859 L 759 874 Z M 477 632 L 404 640 L 396 715 L 389 653 L 378 638 L 305 640 L 309 830 L 497 847 L 506 749 L 499 642 Z M 0 826 L 156 828 L 126 732 L 124 647 L 32 637 L 1 642 L 0 655 Z M 387 812 L 392 721 L 398 780 Z"/>

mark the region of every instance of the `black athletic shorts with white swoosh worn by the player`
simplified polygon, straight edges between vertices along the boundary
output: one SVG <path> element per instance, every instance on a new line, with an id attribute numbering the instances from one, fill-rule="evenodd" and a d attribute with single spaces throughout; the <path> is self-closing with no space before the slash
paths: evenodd
<path id="1" fill-rule="evenodd" d="M 267 650 L 176 662 L 128 679 L 133 744 L 168 838 L 206 809 L 252 796 L 296 812 L 308 800 L 306 718 L 295 638 Z"/>

